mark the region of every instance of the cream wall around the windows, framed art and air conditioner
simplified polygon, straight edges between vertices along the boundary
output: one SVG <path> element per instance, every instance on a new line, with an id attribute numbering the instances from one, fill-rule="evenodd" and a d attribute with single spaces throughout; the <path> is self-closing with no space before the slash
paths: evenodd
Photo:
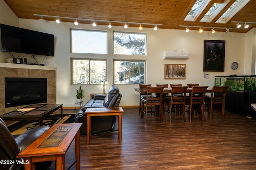
<path id="1" fill-rule="evenodd" d="M 0 15 L 2 15 L 3 0 L 0 0 Z M 6 7 L 5 7 L 6 8 Z M 8 17 L 7 17 L 8 18 Z M 15 18 L 13 16 L 10 17 Z M 6 20 L 0 18 L 0 23 L 8 25 L 14 25 L 14 23 L 6 23 Z M 55 21 L 45 20 L 28 20 L 19 19 L 19 27 L 32 29 L 36 31 L 42 31 L 46 33 L 54 34 L 55 37 L 55 56 L 48 57 L 47 62 L 49 66 L 57 67 L 57 80 L 56 80 L 56 102 L 62 103 L 64 107 L 74 106 L 75 93 L 79 86 L 71 86 L 70 84 L 70 58 L 100 58 L 107 59 L 107 80 L 108 85 L 106 89 L 113 82 L 113 59 L 143 59 L 147 61 L 146 83 L 147 84 L 194 84 L 200 85 L 214 85 L 214 76 L 227 76 L 230 74 L 243 75 L 245 73 L 244 56 L 245 56 L 245 44 L 248 44 L 246 33 L 229 33 L 216 32 L 212 34 L 210 31 L 204 31 L 199 33 L 198 31 L 190 31 L 188 33 L 184 30 L 172 30 L 172 29 L 159 29 L 155 31 L 152 28 L 142 29 L 115 27 L 108 28 L 107 25 L 97 25 L 92 27 L 88 24 L 63 23 L 57 24 Z M 96 55 L 96 54 L 72 54 L 70 53 L 70 27 L 81 29 L 99 29 L 108 31 L 108 54 Z M 135 31 L 148 33 L 148 46 L 147 56 L 126 56 L 126 55 L 113 55 L 112 50 L 112 31 Z M 250 32 L 248 33 L 250 34 Z M 203 51 L 204 51 L 204 39 L 209 40 L 225 40 L 225 71 L 224 72 L 210 72 L 210 78 L 204 78 L 203 72 Z M 249 41 L 250 42 L 250 41 Z M 249 44 L 252 45 L 252 44 Z M 190 58 L 188 60 L 163 60 L 163 51 L 189 51 Z M 19 54 L 15 54 L 19 55 Z M 30 55 L 21 54 L 29 60 Z M 0 62 L 4 62 L 5 57 L 9 56 L 6 52 L 0 52 Z M 44 56 L 37 56 L 38 61 L 42 61 Z M 236 61 L 239 64 L 237 70 L 232 70 L 230 64 Z M 164 80 L 164 64 L 186 64 L 186 79 L 185 80 Z M 246 71 L 247 72 L 247 71 Z M 122 93 L 122 100 L 120 106 L 138 106 L 139 94 L 135 92 L 134 88 L 138 85 L 118 85 Z M 102 93 L 102 85 L 84 85 L 84 102 L 90 99 L 90 93 Z"/>

